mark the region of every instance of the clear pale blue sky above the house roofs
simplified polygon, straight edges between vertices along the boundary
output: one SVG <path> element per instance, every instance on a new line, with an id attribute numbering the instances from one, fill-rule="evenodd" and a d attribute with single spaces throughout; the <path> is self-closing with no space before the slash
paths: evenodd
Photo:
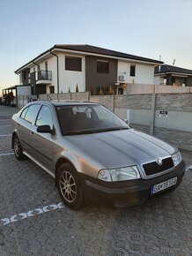
<path id="1" fill-rule="evenodd" d="M 0 0 L 0 94 L 55 44 L 91 44 L 192 70 L 192 0 Z"/>

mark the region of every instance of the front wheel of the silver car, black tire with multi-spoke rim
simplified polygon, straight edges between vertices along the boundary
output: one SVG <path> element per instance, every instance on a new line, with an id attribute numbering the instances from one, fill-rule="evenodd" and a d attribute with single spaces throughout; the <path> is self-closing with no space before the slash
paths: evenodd
<path id="1" fill-rule="evenodd" d="M 65 205 L 78 210 L 84 204 L 84 196 L 77 171 L 70 163 L 63 163 L 56 175 L 56 186 Z"/>

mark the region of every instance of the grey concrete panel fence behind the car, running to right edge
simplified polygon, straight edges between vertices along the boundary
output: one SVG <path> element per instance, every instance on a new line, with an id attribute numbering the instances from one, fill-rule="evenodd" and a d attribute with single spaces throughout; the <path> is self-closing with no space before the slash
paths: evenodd
<path id="1" fill-rule="evenodd" d="M 41 94 L 40 100 L 98 102 L 142 132 L 192 151 L 192 94 L 91 95 L 86 93 Z"/>

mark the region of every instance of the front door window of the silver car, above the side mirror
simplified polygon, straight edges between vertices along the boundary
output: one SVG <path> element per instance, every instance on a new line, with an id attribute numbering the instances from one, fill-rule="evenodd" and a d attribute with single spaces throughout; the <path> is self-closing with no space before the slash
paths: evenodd
<path id="1" fill-rule="evenodd" d="M 49 125 L 53 129 L 53 118 L 51 115 L 51 110 L 47 106 L 42 106 L 40 113 L 37 117 L 36 125 Z"/>

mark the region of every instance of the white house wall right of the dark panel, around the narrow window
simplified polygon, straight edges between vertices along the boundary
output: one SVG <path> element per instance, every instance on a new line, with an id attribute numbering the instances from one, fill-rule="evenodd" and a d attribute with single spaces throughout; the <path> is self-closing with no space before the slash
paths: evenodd
<path id="1" fill-rule="evenodd" d="M 154 65 L 153 64 L 135 64 L 136 76 L 130 77 L 129 72 L 130 72 L 131 64 L 134 64 L 134 63 L 118 61 L 117 81 L 119 81 L 119 75 L 123 75 L 125 78 L 125 81 L 124 81 L 125 83 L 153 85 L 154 83 Z"/>

